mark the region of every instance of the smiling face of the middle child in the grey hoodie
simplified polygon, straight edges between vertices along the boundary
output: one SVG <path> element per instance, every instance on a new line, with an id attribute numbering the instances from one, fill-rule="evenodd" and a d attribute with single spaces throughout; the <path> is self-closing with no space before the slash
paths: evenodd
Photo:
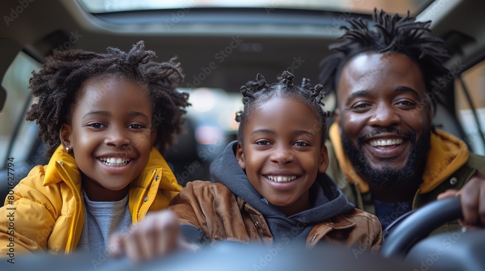
<path id="1" fill-rule="evenodd" d="M 328 166 L 316 112 L 302 101 L 273 98 L 251 112 L 236 158 L 253 187 L 291 215 L 311 208 L 308 190 Z"/>

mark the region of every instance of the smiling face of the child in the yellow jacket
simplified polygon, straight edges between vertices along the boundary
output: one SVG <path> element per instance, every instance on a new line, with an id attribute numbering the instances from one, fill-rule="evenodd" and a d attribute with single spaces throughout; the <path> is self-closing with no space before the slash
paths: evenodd
<path id="1" fill-rule="evenodd" d="M 155 140 L 148 92 L 113 77 L 90 79 L 79 91 L 71 121 L 61 128 L 63 145 L 73 150 L 91 200 L 120 200 L 146 167 Z"/>

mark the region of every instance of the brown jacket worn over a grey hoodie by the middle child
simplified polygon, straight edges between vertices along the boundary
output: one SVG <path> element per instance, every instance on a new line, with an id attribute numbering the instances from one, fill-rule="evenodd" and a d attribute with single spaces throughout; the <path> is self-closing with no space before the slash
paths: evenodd
<path id="1" fill-rule="evenodd" d="M 182 225 L 202 229 L 211 242 L 273 244 L 263 215 L 222 183 L 189 182 L 172 199 L 169 209 L 178 215 Z M 376 216 L 354 209 L 315 225 L 308 234 L 307 246 L 313 247 L 319 241 L 376 249 L 382 242 L 381 224 Z"/>

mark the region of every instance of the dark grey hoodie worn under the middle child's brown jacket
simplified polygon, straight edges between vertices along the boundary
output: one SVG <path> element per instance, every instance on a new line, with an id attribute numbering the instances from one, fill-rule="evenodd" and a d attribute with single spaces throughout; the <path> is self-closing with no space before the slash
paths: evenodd
<path id="1" fill-rule="evenodd" d="M 275 241 L 305 245 L 308 233 L 315 224 L 355 208 L 334 181 L 325 173 L 318 173 L 310 187 L 310 198 L 314 199 L 313 208 L 287 216 L 268 203 L 251 185 L 236 160 L 237 143 L 237 140 L 229 143 L 212 162 L 210 174 L 214 181 L 223 183 L 232 193 L 261 212 Z"/>

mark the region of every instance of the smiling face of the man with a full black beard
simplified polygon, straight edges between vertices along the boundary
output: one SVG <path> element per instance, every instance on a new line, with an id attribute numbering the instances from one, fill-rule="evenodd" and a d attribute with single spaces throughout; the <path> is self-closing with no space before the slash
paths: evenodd
<path id="1" fill-rule="evenodd" d="M 424 94 L 419 67 L 402 54 L 364 53 L 344 66 L 335 120 L 364 180 L 390 186 L 420 178 L 432 118 Z"/>

